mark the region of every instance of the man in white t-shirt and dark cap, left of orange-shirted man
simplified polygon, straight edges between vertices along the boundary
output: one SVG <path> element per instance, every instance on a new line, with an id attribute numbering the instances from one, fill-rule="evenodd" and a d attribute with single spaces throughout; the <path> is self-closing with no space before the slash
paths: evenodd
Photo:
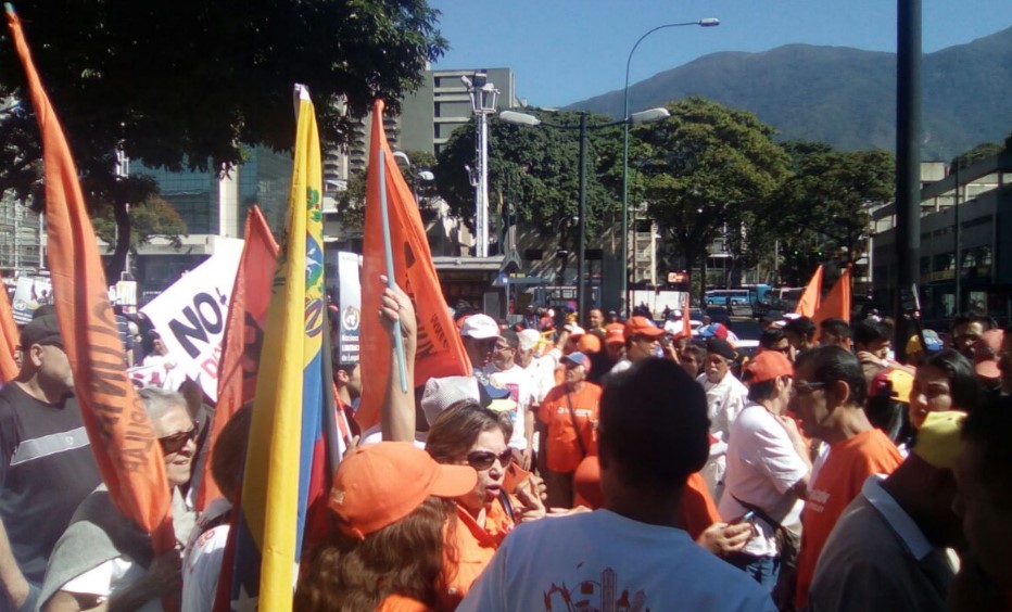
<path id="1" fill-rule="evenodd" d="M 509 390 L 509 398 L 514 401 L 509 410 L 513 435 L 507 441 L 507 446 L 514 449 L 520 467 L 530 470 L 532 454 L 528 450 L 527 431 L 534 431 L 534 412 L 531 411 L 532 385 L 530 374 L 516 364 L 519 347 L 520 336 L 517 332 L 499 332 L 499 337 L 495 341 L 495 350 L 492 353 L 492 362 L 485 366 L 485 374 L 493 385 Z"/>

